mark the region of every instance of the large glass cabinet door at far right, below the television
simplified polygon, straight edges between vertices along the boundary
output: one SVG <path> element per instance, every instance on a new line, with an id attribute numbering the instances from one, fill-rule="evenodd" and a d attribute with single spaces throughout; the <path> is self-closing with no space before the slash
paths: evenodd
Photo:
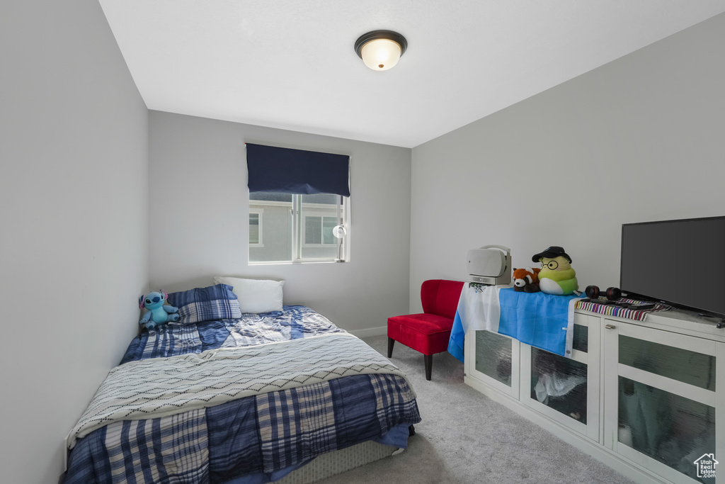
<path id="1" fill-rule="evenodd" d="M 725 343 L 605 323 L 605 446 L 675 483 L 725 483 Z"/>

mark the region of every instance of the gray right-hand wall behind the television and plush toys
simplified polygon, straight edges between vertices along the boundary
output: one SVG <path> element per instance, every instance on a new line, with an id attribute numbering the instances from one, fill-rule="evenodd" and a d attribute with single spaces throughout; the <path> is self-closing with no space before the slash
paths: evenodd
<path id="1" fill-rule="evenodd" d="M 616 286 L 622 223 L 725 215 L 724 45 L 725 14 L 415 147 L 411 309 L 474 247 L 561 245 L 581 288 Z"/>

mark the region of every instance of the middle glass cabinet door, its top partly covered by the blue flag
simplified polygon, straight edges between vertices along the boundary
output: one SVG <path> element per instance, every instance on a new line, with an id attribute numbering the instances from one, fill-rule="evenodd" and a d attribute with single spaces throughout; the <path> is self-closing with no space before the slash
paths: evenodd
<path id="1" fill-rule="evenodd" d="M 573 330 L 571 358 L 521 345 L 521 401 L 599 441 L 600 318 L 576 314 Z"/>

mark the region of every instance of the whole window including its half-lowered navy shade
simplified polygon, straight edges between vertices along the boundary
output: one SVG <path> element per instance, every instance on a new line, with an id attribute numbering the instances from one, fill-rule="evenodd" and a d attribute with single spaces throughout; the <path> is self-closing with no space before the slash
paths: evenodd
<path id="1" fill-rule="evenodd" d="M 246 146 L 249 263 L 349 260 L 349 155 Z"/>

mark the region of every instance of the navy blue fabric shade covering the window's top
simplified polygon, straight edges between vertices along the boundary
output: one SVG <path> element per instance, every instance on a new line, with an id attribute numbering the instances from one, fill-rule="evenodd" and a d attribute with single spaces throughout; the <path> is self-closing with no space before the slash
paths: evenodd
<path id="1" fill-rule="evenodd" d="M 350 157 L 247 143 L 249 192 L 350 196 Z"/>

